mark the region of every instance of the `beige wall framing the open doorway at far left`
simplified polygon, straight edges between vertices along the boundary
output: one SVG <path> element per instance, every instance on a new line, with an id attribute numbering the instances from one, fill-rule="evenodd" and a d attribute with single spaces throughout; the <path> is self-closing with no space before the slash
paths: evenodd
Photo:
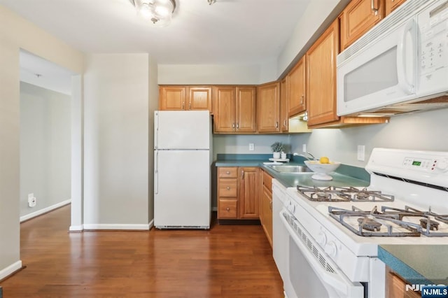
<path id="1" fill-rule="evenodd" d="M 19 50 L 83 71 L 83 53 L 0 6 L 0 279 L 20 262 Z"/>

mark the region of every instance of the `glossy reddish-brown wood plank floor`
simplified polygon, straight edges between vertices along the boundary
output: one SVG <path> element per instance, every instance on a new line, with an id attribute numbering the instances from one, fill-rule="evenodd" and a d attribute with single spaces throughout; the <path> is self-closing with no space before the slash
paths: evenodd
<path id="1" fill-rule="evenodd" d="M 283 297 L 259 225 L 68 233 L 70 206 L 21 224 L 13 297 Z"/>

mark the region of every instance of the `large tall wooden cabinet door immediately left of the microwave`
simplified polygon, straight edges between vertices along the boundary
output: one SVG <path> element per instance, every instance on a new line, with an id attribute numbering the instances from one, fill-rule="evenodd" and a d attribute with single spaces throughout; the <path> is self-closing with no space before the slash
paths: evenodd
<path id="1" fill-rule="evenodd" d="M 336 114 L 338 24 L 337 20 L 332 22 L 306 54 L 309 127 L 339 119 Z"/>

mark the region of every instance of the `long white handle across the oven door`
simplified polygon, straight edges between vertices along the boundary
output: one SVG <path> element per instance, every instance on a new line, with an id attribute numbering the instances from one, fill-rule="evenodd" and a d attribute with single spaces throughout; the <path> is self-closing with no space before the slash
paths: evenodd
<path id="1" fill-rule="evenodd" d="M 327 264 L 330 264 L 330 267 L 334 272 L 327 271 L 322 267 L 321 262 L 316 259 L 316 255 L 308 250 L 307 246 L 305 246 L 302 240 L 297 236 L 294 229 L 290 227 L 289 223 L 286 221 L 286 218 L 284 218 L 283 216 L 283 212 L 285 211 L 281 211 L 280 218 L 283 222 L 283 225 L 286 227 L 290 238 L 293 239 L 295 245 L 297 245 L 297 247 L 302 252 L 305 260 L 307 260 L 307 262 L 311 265 L 311 268 L 314 270 L 314 272 L 316 272 L 316 276 L 318 276 L 318 278 L 321 280 L 330 297 L 363 297 L 363 285 L 361 285 L 360 283 L 352 283 L 342 273 L 342 271 L 340 271 L 340 269 L 332 261 L 329 260 L 328 255 L 325 255 L 325 253 L 321 252 L 321 248 L 318 248 L 316 243 L 313 243 L 313 245 L 316 247 L 316 250 L 318 250 L 318 253 L 325 257 L 325 261 L 327 262 Z M 300 225 L 297 220 L 295 220 L 295 222 L 296 224 Z M 300 227 L 301 229 L 303 229 L 302 225 L 300 225 Z M 307 236 L 309 238 L 309 235 Z M 311 239 L 309 238 L 309 240 Z"/>

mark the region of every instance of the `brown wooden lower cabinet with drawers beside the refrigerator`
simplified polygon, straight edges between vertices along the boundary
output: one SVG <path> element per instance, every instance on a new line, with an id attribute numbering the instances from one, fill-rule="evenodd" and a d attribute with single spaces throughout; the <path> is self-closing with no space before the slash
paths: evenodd
<path id="1" fill-rule="evenodd" d="M 260 169 L 218 167 L 218 220 L 258 220 Z"/>

